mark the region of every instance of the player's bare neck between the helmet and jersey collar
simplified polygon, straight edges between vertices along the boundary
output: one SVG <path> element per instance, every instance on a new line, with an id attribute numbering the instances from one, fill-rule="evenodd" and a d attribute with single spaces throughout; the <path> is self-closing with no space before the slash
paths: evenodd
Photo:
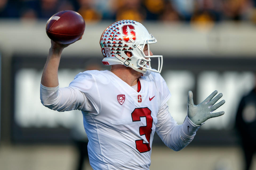
<path id="1" fill-rule="evenodd" d="M 110 71 L 129 84 L 129 86 L 134 86 L 137 83 L 138 78 L 142 75 L 142 73 L 124 65 L 112 65 Z"/>

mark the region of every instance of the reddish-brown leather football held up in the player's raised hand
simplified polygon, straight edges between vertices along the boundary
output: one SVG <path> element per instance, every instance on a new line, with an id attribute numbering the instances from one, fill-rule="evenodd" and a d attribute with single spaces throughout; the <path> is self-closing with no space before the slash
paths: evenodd
<path id="1" fill-rule="evenodd" d="M 60 11 L 49 18 L 45 29 L 51 40 L 59 44 L 70 44 L 83 35 L 85 20 L 75 11 Z"/>

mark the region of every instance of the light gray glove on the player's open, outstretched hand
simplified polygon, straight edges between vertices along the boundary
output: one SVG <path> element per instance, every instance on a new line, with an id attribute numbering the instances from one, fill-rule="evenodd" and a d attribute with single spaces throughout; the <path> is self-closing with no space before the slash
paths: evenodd
<path id="1" fill-rule="evenodd" d="M 219 108 L 221 105 L 225 103 L 225 100 L 221 100 L 219 103 L 215 104 L 223 96 L 222 93 L 220 93 L 216 97 L 214 97 L 217 93 L 218 91 L 215 90 L 202 103 L 198 105 L 194 105 L 193 93 L 192 91 L 189 91 L 189 94 L 187 97 L 187 115 L 194 124 L 201 125 L 207 119 L 212 117 L 218 117 L 225 113 L 223 111 L 212 113 L 213 111 L 215 111 L 217 108 Z"/>

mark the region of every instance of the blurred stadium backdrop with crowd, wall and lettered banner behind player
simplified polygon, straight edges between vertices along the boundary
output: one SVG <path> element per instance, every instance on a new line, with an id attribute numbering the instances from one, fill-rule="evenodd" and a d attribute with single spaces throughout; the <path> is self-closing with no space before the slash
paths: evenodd
<path id="1" fill-rule="evenodd" d="M 143 23 L 158 40 L 162 76 L 172 97 L 169 110 L 181 124 L 187 92 L 196 104 L 212 91 L 223 93 L 225 115 L 208 120 L 182 151 L 157 135 L 150 169 L 238 170 L 244 165 L 234 129 L 241 97 L 255 86 L 256 3 L 253 0 L 1 0 L 0 1 L 0 169 L 75 169 L 75 140 L 83 136 L 79 111 L 55 112 L 39 98 L 50 40 L 46 21 L 74 10 L 85 19 L 83 39 L 63 51 L 61 87 L 101 64 L 99 37 L 116 20 Z M 217 110 L 218 111 L 218 110 Z M 251 119 L 255 117 L 250 117 Z M 84 169 L 91 169 L 88 162 Z M 256 169 L 256 158 L 251 169 Z"/>

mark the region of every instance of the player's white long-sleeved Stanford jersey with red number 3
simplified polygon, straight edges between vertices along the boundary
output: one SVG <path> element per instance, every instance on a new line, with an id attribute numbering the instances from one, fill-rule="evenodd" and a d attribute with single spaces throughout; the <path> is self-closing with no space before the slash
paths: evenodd
<path id="1" fill-rule="evenodd" d="M 168 147 L 180 150 L 199 127 L 188 118 L 185 126 L 173 120 L 166 105 L 171 95 L 158 73 L 140 77 L 138 91 L 108 70 L 79 73 L 58 93 L 45 87 L 41 90 L 47 107 L 82 111 L 93 169 L 149 169 L 155 131 Z M 50 96 L 59 97 L 44 101 L 44 90 L 53 90 Z"/>

